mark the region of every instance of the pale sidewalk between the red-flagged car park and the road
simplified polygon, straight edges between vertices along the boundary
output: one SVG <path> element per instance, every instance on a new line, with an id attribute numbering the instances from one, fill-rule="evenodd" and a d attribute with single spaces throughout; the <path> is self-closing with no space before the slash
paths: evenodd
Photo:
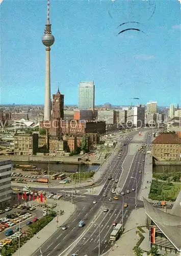
<path id="1" fill-rule="evenodd" d="M 59 200 L 59 205 L 65 213 L 64 215 L 58 217 L 58 227 L 62 226 L 76 209 L 75 205 L 72 205 L 70 202 L 66 202 L 63 200 Z M 60 210 L 59 205 L 58 208 Z M 36 250 L 38 250 L 42 246 L 42 244 L 44 244 L 57 231 L 56 221 L 57 217 L 55 217 L 51 222 L 49 222 L 43 229 L 41 229 L 37 233 L 39 239 L 37 239 L 37 235 L 35 235 L 27 243 L 23 244 L 23 246 L 20 247 L 20 255 L 32 255 Z M 18 250 L 13 254 L 13 256 L 18 256 Z"/>

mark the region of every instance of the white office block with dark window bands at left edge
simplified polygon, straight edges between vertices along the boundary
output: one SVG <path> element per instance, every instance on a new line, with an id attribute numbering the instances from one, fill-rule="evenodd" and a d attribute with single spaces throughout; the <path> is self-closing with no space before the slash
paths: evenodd
<path id="1" fill-rule="evenodd" d="M 0 161 L 0 208 L 11 202 L 11 160 Z"/>

